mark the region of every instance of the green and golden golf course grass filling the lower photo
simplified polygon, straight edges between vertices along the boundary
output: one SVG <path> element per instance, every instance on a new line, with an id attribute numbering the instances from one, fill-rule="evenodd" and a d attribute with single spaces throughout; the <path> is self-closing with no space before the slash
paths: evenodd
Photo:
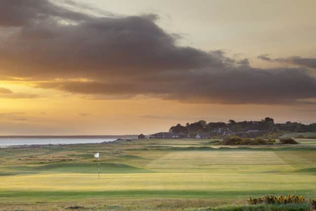
<path id="1" fill-rule="evenodd" d="M 135 139 L 0 148 L 0 210 L 211 210 L 264 195 L 316 197 L 315 139 L 222 146 Z M 98 160 L 100 153 L 100 178 Z"/>

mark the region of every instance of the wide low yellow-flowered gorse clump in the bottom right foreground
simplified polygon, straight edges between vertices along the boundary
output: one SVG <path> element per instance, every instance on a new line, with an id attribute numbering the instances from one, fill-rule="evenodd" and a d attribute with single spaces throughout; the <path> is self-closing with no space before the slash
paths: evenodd
<path id="1" fill-rule="evenodd" d="M 296 196 L 295 194 L 289 194 L 287 197 L 280 195 L 278 197 L 273 195 L 263 196 L 260 198 L 252 198 L 249 197 L 248 203 L 250 205 L 257 205 L 257 204 L 292 204 L 292 203 L 305 203 L 304 196 Z"/>

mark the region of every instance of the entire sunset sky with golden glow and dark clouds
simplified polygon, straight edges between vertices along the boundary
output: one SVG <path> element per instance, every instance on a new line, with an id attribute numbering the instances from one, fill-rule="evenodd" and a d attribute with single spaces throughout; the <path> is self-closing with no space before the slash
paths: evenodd
<path id="1" fill-rule="evenodd" d="M 316 122 L 315 0 L 0 0 L 0 135 Z"/>

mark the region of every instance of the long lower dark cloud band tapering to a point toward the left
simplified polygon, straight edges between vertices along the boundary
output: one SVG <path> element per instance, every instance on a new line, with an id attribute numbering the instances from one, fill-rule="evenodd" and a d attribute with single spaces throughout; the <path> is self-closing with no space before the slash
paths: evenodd
<path id="1" fill-rule="evenodd" d="M 249 72 L 251 72 L 249 74 Z M 152 78 L 151 78 L 152 77 Z M 126 95 L 139 94 L 199 103 L 306 103 L 298 99 L 313 98 L 316 83 L 300 69 L 255 69 L 248 67 L 212 73 L 156 74 L 138 78 L 133 83 L 103 84 L 96 82 L 43 83 L 74 93 Z"/>

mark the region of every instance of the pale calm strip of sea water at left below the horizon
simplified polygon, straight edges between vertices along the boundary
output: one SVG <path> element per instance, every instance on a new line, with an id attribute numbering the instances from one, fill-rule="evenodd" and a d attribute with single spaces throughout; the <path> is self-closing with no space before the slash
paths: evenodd
<path id="1" fill-rule="evenodd" d="M 114 141 L 117 138 L 0 138 L 0 147 L 33 144 L 84 144 Z"/>

